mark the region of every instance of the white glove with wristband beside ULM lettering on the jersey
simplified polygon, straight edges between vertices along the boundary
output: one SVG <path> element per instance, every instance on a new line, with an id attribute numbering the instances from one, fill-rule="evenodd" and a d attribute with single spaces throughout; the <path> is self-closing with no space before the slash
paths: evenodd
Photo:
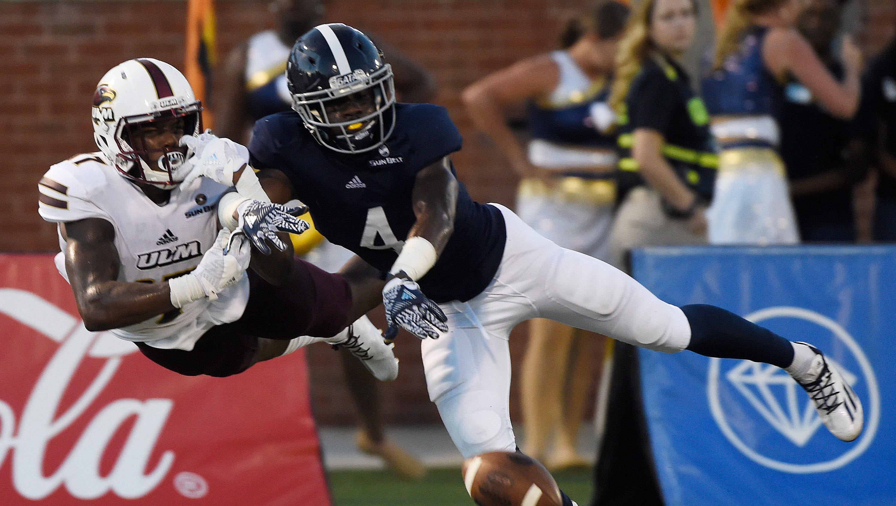
<path id="1" fill-rule="evenodd" d="M 229 251 L 224 253 L 228 244 Z M 171 304 L 183 307 L 202 297 L 217 300 L 222 290 L 242 279 L 249 267 L 250 257 L 251 251 L 245 237 L 231 237 L 228 229 L 222 229 L 192 272 L 168 279 Z"/>

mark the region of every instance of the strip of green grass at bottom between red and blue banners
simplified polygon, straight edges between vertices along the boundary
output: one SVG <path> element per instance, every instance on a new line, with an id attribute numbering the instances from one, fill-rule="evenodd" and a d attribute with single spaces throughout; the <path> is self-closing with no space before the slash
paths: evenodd
<path id="1" fill-rule="evenodd" d="M 470 506 L 463 488 L 461 469 L 429 469 L 418 482 L 396 479 L 384 470 L 332 471 L 330 489 L 335 506 Z M 591 470 L 564 471 L 554 475 L 557 485 L 573 501 L 584 506 L 591 499 Z"/>

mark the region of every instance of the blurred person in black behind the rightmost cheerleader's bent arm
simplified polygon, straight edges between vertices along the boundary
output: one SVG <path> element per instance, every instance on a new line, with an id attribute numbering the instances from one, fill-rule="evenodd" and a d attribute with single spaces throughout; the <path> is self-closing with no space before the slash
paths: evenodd
<path id="1" fill-rule="evenodd" d="M 835 0 L 811 0 L 797 21 L 799 31 L 838 79 L 843 65 L 832 55 L 840 21 Z M 797 81 L 784 89 L 780 117 L 781 158 L 804 242 L 852 242 L 856 238 L 852 186 L 866 175 L 848 163 L 849 122 L 831 116 Z"/>

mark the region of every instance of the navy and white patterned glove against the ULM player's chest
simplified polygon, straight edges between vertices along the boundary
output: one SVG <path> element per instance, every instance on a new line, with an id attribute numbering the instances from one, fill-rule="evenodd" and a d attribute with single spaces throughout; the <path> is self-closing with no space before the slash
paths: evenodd
<path id="1" fill-rule="evenodd" d="M 241 229 L 255 248 L 263 254 L 271 254 L 271 248 L 265 243 L 265 239 L 271 241 L 271 244 L 280 251 L 284 251 L 287 245 L 277 232 L 290 234 L 305 232 L 311 226 L 306 220 L 296 218 L 305 212 L 303 208 L 291 208 L 249 199 L 237 207 L 239 216 L 237 228 Z"/>

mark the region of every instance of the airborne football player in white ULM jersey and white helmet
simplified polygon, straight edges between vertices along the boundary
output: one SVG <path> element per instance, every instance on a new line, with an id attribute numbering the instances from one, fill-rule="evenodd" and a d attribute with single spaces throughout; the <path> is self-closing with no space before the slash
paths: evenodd
<path id="1" fill-rule="evenodd" d="M 307 224 L 271 204 L 246 148 L 202 134 L 201 111 L 175 67 L 126 61 L 94 94 L 99 152 L 40 179 L 39 213 L 59 224 L 56 267 L 84 325 L 187 375 L 228 376 L 323 341 L 393 380 L 398 360 L 364 316 L 380 302 L 378 272 L 294 260 L 278 233 Z M 210 171 L 237 191 L 199 177 Z"/>

